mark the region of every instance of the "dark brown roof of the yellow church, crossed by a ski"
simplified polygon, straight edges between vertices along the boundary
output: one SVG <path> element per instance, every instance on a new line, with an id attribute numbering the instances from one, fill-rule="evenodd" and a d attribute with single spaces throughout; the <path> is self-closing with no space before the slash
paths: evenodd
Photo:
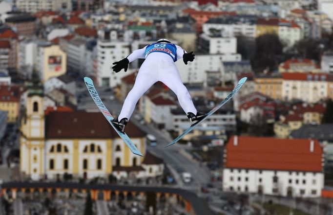
<path id="1" fill-rule="evenodd" d="M 146 133 L 129 122 L 125 128 L 131 138 L 145 137 Z M 100 112 L 50 112 L 45 121 L 46 138 L 119 138 L 117 132 Z"/>

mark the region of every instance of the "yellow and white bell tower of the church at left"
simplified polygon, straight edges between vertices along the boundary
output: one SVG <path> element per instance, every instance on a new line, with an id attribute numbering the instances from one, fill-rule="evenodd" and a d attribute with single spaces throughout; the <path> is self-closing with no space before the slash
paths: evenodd
<path id="1" fill-rule="evenodd" d="M 44 92 L 36 73 L 26 87 L 25 116 L 21 122 L 20 168 L 25 175 L 37 180 L 44 174 Z"/>

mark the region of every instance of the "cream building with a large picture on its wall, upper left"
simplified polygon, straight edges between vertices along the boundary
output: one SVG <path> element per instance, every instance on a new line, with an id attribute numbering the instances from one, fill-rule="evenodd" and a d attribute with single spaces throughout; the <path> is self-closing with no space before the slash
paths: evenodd
<path id="1" fill-rule="evenodd" d="M 66 53 L 59 45 L 41 45 L 38 48 L 38 70 L 42 83 L 66 72 Z"/>

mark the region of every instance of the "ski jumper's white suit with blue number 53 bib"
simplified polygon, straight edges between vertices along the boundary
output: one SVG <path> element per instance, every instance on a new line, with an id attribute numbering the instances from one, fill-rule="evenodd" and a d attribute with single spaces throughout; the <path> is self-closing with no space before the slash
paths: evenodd
<path id="1" fill-rule="evenodd" d="M 157 81 L 164 83 L 177 95 L 179 104 L 186 114 L 188 112 L 197 113 L 174 63 L 182 58 L 184 53 L 186 52 L 180 46 L 172 43 L 152 43 L 127 56 L 129 62 L 137 58 L 146 58 L 146 60 L 140 67 L 134 86 L 125 99 L 118 116 L 119 120 L 131 117 L 141 96 Z"/>

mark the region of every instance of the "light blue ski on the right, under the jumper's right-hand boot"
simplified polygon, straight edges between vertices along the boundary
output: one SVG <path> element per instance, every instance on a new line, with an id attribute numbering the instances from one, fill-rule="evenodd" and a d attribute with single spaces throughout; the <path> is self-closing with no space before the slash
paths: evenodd
<path id="1" fill-rule="evenodd" d="M 211 109 L 208 113 L 207 116 L 202 119 L 201 121 L 199 121 L 198 123 L 191 125 L 189 128 L 187 128 L 181 135 L 179 135 L 176 139 L 174 139 L 171 143 L 167 144 L 168 147 L 170 145 L 173 145 L 175 143 L 177 143 L 180 139 L 182 139 L 185 135 L 187 135 L 187 133 L 189 133 L 191 130 L 193 130 L 196 126 L 198 126 L 199 124 L 201 124 L 203 121 L 205 121 L 210 115 L 212 115 L 216 110 L 218 110 L 220 107 L 222 107 L 224 104 L 226 104 L 236 93 L 237 91 L 244 85 L 244 83 L 246 82 L 247 77 L 242 78 L 241 80 L 238 81 L 237 86 L 230 92 L 230 94 L 227 96 L 227 98 L 225 98 L 220 104 L 218 104 L 217 106 L 215 106 L 213 109 Z"/>

